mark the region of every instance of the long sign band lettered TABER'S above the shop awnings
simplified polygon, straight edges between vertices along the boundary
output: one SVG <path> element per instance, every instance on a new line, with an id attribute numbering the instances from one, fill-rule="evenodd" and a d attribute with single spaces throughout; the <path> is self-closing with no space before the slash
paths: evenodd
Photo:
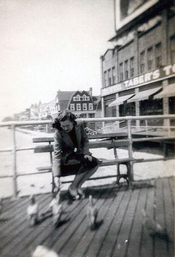
<path id="1" fill-rule="evenodd" d="M 140 87 L 143 84 L 154 82 L 157 80 L 165 79 L 168 76 L 175 74 L 175 63 L 173 65 L 167 65 L 160 69 L 147 72 L 134 78 L 122 81 L 115 85 L 111 85 L 107 88 L 101 89 L 101 96 L 117 93 L 119 91 Z"/>

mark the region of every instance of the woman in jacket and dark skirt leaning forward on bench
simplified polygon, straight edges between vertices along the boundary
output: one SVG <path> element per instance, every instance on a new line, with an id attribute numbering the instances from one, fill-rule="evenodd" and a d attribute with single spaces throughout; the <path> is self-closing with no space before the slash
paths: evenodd
<path id="1" fill-rule="evenodd" d="M 54 135 L 52 172 L 56 187 L 59 187 L 60 177 L 75 175 L 68 193 L 73 199 L 79 199 L 84 197 L 82 184 L 96 172 L 99 163 L 89 152 L 89 139 L 83 123 L 75 119 L 71 111 L 65 110 L 52 124 L 58 130 Z"/>

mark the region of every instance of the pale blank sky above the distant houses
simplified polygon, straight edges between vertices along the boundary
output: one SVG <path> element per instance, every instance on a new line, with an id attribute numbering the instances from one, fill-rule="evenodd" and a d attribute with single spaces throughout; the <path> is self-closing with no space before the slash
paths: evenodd
<path id="1" fill-rule="evenodd" d="M 58 90 L 100 95 L 113 0 L 0 0 L 0 121 Z"/>

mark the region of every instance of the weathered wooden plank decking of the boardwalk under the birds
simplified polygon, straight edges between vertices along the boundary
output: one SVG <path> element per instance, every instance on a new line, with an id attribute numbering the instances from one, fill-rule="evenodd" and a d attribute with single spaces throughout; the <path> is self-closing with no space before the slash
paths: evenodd
<path id="1" fill-rule="evenodd" d="M 63 192 L 64 214 L 58 228 L 52 218 L 28 226 L 29 197 L 4 200 L 0 216 L 0 256 L 28 257 L 38 244 L 54 249 L 61 257 L 174 256 L 174 178 L 155 180 L 152 187 L 88 188 L 86 198 L 68 204 Z M 99 228 L 91 231 L 86 217 L 88 196 L 99 209 Z M 37 195 L 39 208 L 47 207 L 52 195 Z M 141 209 L 167 229 L 172 243 L 152 238 Z M 103 221 L 103 222 L 102 222 Z"/>

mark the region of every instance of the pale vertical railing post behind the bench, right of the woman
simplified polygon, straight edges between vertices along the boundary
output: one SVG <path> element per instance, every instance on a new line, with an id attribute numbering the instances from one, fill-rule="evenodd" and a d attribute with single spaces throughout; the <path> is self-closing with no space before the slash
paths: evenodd
<path id="1" fill-rule="evenodd" d="M 129 155 L 129 158 L 133 158 L 133 139 L 132 139 L 132 130 L 131 130 L 131 119 L 127 120 L 127 138 L 129 141 L 128 155 Z M 130 181 L 134 181 L 133 161 L 130 161 L 129 163 L 130 163 L 130 172 L 128 174 L 128 177 Z"/>

